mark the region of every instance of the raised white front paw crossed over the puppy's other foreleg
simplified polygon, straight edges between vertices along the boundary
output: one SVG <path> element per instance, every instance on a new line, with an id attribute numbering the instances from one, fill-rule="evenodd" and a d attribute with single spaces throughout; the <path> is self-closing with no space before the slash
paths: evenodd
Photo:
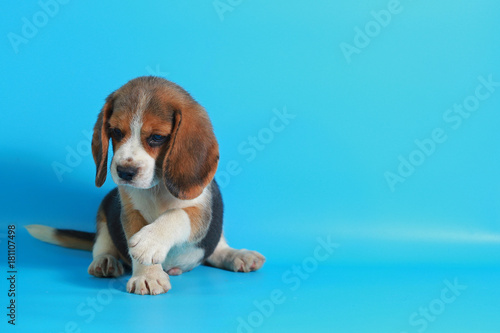
<path id="1" fill-rule="evenodd" d="M 170 249 L 152 224 L 142 227 L 128 243 L 132 258 L 143 265 L 161 264 Z"/>

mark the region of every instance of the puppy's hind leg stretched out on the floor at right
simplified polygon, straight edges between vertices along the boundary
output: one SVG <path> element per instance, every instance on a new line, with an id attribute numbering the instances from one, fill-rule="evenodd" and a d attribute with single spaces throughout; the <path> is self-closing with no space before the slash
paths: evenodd
<path id="1" fill-rule="evenodd" d="M 233 272 L 252 272 L 264 265 L 266 258 L 258 252 L 245 249 L 237 250 L 229 247 L 221 236 L 214 253 L 207 259 L 206 264 Z"/>

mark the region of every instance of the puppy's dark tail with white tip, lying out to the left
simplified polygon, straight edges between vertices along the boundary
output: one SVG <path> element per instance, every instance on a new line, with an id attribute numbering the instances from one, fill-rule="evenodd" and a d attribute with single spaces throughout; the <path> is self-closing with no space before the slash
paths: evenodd
<path id="1" fill-rule="evenodd" d="M 31 236 L 41 241 L 70 249 L 92 251 L 94 245 L 95 233 L 93 232 L 56 229 L 39 224 L 27 225 L 25 228 Z"/>

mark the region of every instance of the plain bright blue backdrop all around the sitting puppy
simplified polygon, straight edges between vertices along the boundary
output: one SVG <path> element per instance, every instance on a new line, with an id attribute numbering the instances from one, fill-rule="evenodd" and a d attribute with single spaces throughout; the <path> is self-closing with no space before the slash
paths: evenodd
<path id="1" fill-rule="evenodd" d="M 40 4 L 0 5 L 0 251 L 16 224 L 19 265 L 17 326 L 2 315 L 2 331 L 63 332 L 73 321 L 81 332 L 234 332 L 277 289 L 284 303 L 253 331 L 417 332 L 412 313 L 458 279 L 467 289 L 425 331 L 499 332 L 500 87 L 457 129 L 443 115 L 479 77 L 500 82 L 500 4 L 402 0 L 348 61 L 341 44 L 354 45 L 390 1 L 231 3 L 221 19 L 211 0 L 69 1 L 17 52 L 9 36 L 22 36 Z M 110 293 L 109 280 L 87 275 L 91 255 L 22 226 L 93 230 L 113 184 L 94 187 L 85 133 L 110 92 L 151 74 L 208 110 L 217 177 L 239 165 L 223 186 L 226 236 L 267 263 L 248 275 L 200 267 L 158 297 L 117 283 L 90 320 L 80 304 Z M 248 161 L 238 147 L 284 108 L 295 118 Z M 391 191 L 385 173 L 436 128 L 447 140 Z M 67 164 L 68 149 L 81 160 L 60 181 L 53 164 Z M 283 276 L 311 262 L 318 237 L 339 247 L 292 290 Z"/>

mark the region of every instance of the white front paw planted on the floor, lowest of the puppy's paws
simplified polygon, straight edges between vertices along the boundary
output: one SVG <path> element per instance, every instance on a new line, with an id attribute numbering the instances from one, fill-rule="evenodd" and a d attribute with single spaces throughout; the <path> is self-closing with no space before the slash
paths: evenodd
<path id="1" fill-rule="evenodd" d="M 162 269 L 132 276 L 127 282 L 127 291 L 137 295 L 164 294 L 170 289 L 170 278 Z"/>

